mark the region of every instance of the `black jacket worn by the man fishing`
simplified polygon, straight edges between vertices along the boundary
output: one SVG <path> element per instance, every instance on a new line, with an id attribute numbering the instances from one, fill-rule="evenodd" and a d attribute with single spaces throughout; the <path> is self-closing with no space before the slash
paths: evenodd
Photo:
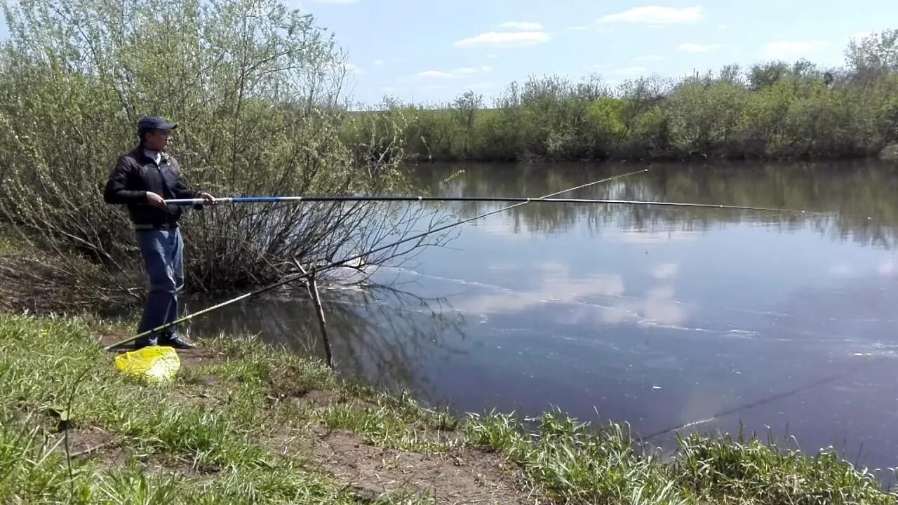
<path id="1" fill-rule="evenodd" d="M 152 207 L 147 191 L 163 199 L 195 199 L 199 191 L 188 190 L 180 173 L 180 165 L 172 155 L 162 153 L 159 165 L 144 154 L 141 146 L 119 156 L 110 173 L 103 199 L 106 203 L 127 205 L 131 221 L 137 228 L 177 226 L 184 207 L 169 205 L 165 210 Z"/>

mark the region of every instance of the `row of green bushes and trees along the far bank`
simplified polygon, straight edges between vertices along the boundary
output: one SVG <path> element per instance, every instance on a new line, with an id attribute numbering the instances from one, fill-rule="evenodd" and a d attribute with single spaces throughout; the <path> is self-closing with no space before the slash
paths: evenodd
<path id="1" fill-rule="evenodd" d="M 534 76 L 491 106 L 467 92 L 437 107 L 387 98 L 361 115 L 401 125 L 420 161 L 876 155 L 898 141 L 898 29 L 852 40 L 845 57 L 842 67 L 775 60 L 616 88 Z"/>

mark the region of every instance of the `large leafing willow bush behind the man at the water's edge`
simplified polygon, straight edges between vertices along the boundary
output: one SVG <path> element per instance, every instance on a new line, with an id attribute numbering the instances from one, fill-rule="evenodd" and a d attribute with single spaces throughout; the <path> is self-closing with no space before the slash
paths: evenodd
<path id="1" fill-rule="evenodd" d="M 348 115 L 343 56 L 310 14 L 277 0 L 3 5 L 0 219 L 51 260 L 43 260 L 51 270 L 33 270 L 44 272 L 35 281 L 103 299 L 140 296 L 126 211 L 103 204 L 101 191 L 145 114 L 179 123 L 172 154 L 189 186 L 215 194 L 371 194 L 408 184 L 400 128 L 388 138 L 340 137 L 346 121 L 366 119 Z M 377 152 L 356 155 L 359 145 Z M 217 289 L 280 279 L 294 258 L 362 253 L 422 218 L 431 225 L 423 210 L 372 203 L 190 210 L 188 282 Z M 401 261 L 437 240 L 366 260 Z"/>

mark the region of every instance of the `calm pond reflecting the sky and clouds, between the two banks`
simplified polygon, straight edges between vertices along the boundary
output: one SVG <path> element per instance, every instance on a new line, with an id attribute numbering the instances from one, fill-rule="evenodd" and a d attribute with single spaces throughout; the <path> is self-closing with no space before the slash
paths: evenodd
<path id="1" fill-rule="evenodd" d="M 560 196 L 829 214 L 503 211 L 378 270 L 390 288 L 327 290 L 338 367 L 456 412 L 558 408 L 627 422 L 668 448 L 667 430 L 681 425 L 744 425 L 811 454 L 832 446 L 859 465 L 898 466 L 895 164 L 428 164 L 416 174 L 437 195 L 539 197 L 646 167 Z M 445 208 L 473 217 L 504 205 Z M 235 304 L 191 332 L 259 333 L 323 353 L 302 299 Z"/>

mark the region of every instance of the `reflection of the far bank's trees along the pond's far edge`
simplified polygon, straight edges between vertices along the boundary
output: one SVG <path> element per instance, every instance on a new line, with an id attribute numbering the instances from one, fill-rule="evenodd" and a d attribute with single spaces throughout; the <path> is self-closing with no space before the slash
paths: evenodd
<path id="1" fill-rule="evenodd" d="M 620 205 L 534 204 L 508 211 L 514 234 L 565 232 L 585 219 L 594 232 L 614 224 L 630 232 L 698 233 L 752 222 L 778 231 L 811 228 L 833 240 L 891 247 L 898 225 L 898 173 L 876 160 L 829 163 L 735 165 L 653 164 L 632 175 L 561 195 L 591 199 L 637 199 L 838 213 L 834 217 L 750 212 L 713 208 L 659 208 Z M 575 187 L 626 173 L 627 164 L 433 164 L 416 174 L 433 194 L 453 196 L 530 196 Z M 449 174 L 461 175 L 444 182 Z M 821 183 L 825 181 L 825 183 Z M 453 210 L 472 217 L 495 208 L 462 202 Z M 670 229 L 671 217 L 679 226 Z M 872 217 L 872 219 L 867 219 Z"/>

